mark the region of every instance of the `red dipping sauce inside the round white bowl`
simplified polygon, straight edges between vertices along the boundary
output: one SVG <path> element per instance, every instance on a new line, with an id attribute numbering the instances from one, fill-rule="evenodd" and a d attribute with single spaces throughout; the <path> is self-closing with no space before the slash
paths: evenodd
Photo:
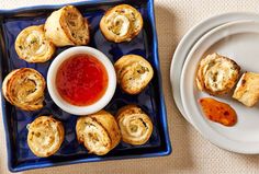
<path id="1" fill-rule="evenodd" d="M 99 101 L 108 88 L 108 72 L 95 57 L 75 55 L 57 70 L 56 86 L 68 103 L 87 106 Z"/>

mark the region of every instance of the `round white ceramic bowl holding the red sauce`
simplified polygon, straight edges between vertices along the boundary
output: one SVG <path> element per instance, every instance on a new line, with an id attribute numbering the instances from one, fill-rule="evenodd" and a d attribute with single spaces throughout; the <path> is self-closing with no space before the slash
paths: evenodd
<path id="1" fill-rule="evenodd" d="M 99 101 L 88 106 L 76 106 L 68 103 L 59 95 L 56 88 L 56 74 L 57 74 L 58 68 L 65 60 L 78 54 L 88 54 L 95 57 L 98 60 L 102 62 L 102 65 L 105 67 L 106 72 L 108 72 L 109 82 L 108 82 L 108 89 Z M 53 60 L 47 72 L 47 89 L 53 101 L 65 112 L 74 114 L 74 115 L 88 115 L 88 114 L 99 112 L 104 106 L 106 106 L 106 104 L 111 101 L 116 89 L 116 74 L 110 59 L 100 50 L 92 47 L 88 47 L 88 46 L 71 47 L 60 53 Z"/>

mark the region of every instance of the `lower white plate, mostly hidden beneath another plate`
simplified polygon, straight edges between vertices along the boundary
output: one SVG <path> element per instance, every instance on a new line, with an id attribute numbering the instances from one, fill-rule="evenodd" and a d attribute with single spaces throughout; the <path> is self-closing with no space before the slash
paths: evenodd
<path id="1" fill-rule="evenodd" d="M 210 30 L 216 26 L 219 26 L 222 24 L 233 22 L 233 21 L 239 21 L 239 20 L 259 21 L 259 15 L 254 14 L 254 13 L 226 13 L 226 14 L 221 14 L 221 15 L 210 18 L 199 23 L 194 27 L 192 27 L 179 43 L 173 54 L 172 61 L 171 61 L 170 82 L 171 82 L 174 103 L 177 107 L 179 108 L 180 113 L 183 115 L 183 117 L 188 121 L 190 121 L 190 119 L 188 118 L 183 109 L 182 100 L 180 96 L 180 77 L 182 72 L 182 66 L 184 63 L 184 60 L 190 49 L 198 42 L 198 39 Z"/>

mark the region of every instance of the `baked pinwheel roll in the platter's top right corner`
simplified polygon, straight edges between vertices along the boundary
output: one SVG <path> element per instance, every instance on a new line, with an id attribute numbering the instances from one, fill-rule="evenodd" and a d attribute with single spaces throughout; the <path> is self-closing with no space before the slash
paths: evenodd
<path id="1" fill-rule="evenodd" d="M 143 27 L 142 14 L 128 4 L 120 4 L 110 9 L 100 22 L 104 37 L 111 42 L 130 42 Z"/>

